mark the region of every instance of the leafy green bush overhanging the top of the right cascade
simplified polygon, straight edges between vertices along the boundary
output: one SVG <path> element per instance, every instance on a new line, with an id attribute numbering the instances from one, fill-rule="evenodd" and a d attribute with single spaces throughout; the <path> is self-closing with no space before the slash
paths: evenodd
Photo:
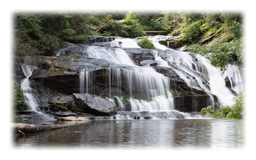
<path id="1" fill-rule="evenodd" d="M 242 66 L 244 59 L 242 56 L 242 39 L 231 42 L 213 41 L 210 45 L 191 45 L 188 51 L 206 56 L 215 67 L 224 69 L 226 64 L 238 64 Z M 208 54 L 211 53 L 209 56 Z"/>

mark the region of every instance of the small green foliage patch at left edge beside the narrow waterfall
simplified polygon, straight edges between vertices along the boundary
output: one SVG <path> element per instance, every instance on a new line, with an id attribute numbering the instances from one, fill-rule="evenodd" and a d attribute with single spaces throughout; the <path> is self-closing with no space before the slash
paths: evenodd
<path id="1" fill-rule="evenodd" d="M 12 86 L 12 91 L 14 94 L 14 106 L 16 110 L 26 110 L 26 106 L 24 104 L 24 90 L 17 84 Z"/>

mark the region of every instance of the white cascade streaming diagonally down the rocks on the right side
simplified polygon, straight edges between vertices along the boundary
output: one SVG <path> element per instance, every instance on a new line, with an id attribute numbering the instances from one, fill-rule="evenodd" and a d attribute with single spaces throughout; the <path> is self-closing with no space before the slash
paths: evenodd
<path id="1" fill-rule="evenodd" d="M 154 46 L 160 50 L 166 50 L 165 46 L 159 46 L 158 40 L 166 39 L 166 37 L 154 36 L 150 37 L 153 41 Z M 157 44 L 157 45 L 155 45 Z M 170 67 L 167 63 L 164 62 L 157 53 L 155 53 L 156 60 L 161 62 L 160 64 L 165 67 Z M 167 54 L 167 58 L 165 59 L 167 62 L 174 64 L 174 71 L 180 76 L 180 78 L 184 79 L 186 84 L 192 88 L 204 90 L 209 98 L 210 104 L 214 106 L 212 94 L 218 97 L 220 103 L 223 106 L 232 105 L 234 103 L 234 95 L 231 91 L 226 87 L 223 76 L 221 76 L 222 72 L 219 68 L 215 68 L 211 65 L 210 61 L 205 57 L 198 54 L 190 54 L 187 52 L 179 52 L 177 50 L 172 50 L 170 54 Z M 225 75 L 230 79 L 232 89 L 235 91 L 242 90 L 242 78 L 239 69 L 231 64 L 227 65 L 227 70 Z M 195 72 L 196 71 L 196 72 Z M 200 75 L 198 74 L 198 72 Z M 204 75 L 209 78 L 210 88 L 207 88 L 203 83 L 202 79 Z M 234 79 L 234 80 L 233 80 Z"/>

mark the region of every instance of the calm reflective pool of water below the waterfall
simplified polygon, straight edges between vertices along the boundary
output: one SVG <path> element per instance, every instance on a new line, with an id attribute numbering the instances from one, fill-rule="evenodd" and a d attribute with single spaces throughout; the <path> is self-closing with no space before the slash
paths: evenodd
<path id="1" fill-rule="evenodd" d="M 93 120 L 78 126 L 30 134 L 14 146 L 83 148 L 238 148 L 242 120 Z"/>

